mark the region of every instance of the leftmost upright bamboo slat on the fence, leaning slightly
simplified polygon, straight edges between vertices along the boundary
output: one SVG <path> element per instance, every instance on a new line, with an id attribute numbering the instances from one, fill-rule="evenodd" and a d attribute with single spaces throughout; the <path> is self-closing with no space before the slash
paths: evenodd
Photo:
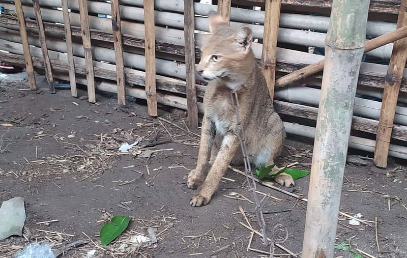
<path id="1" fill-rule="evenodd" d="M 24 50 L 25 58 L 25 70 L 27 72 L 28 81 L 30 82 L 30 89 L 37 90 L 37 84 L 35 81 L 33 59 L 31 58 L 30 45 L 28 44 L 27 30 L 25 28 L 24 13 L 22 11 L 21 0 L 15 0 L 14 5 L 16 7 L 18 24 L 20 25 L 20 37 L 22 48 Z"/>

